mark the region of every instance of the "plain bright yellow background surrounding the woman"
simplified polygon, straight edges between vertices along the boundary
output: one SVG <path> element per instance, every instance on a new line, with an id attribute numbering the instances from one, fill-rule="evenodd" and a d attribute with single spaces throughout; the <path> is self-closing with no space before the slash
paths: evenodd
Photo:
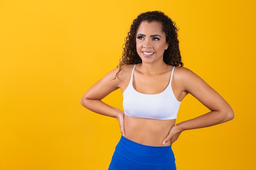
<path id="1" fill-rule="evenodd" d="M 118 122 L 80 105 L 118 65 L 133 19 L 161 10 L 180 28 L 184 66 L 235 119 L 173 144 L 178 170 L 256 170 L 254 0 L 0 0 L 0 170 L 106 170 Z M 122 108 L 121 91 L 104 99 Z M 177 122 L 208 110 L 191 95 Z"/>

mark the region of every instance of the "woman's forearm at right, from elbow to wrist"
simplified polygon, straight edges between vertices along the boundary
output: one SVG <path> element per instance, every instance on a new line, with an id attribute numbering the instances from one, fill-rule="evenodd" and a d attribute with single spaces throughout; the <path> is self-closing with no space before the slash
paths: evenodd
<path id="1" fill-rule="evenodd" d="M 194 119 L 190 119 L 187 121 L 182 121 L 177 126 L 180 131 L 204 128 L 209 126 L 214 126 L 217 124 L 224 123 L 234 118 L 233 111 L 226 110 L 224 111 L 211 111 Z"/>

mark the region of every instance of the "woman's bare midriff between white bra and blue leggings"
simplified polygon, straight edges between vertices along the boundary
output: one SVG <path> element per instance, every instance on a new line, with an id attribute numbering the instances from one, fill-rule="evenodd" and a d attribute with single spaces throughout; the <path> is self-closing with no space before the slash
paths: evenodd
<path id="1" fill-rule="evenodd" d="M 175 120 L 145 119 L 124 115 L 125 137 L 147 146 L 170 146 L 170 141 L 165 145 L 162 142 L 175 124 Z"/>

